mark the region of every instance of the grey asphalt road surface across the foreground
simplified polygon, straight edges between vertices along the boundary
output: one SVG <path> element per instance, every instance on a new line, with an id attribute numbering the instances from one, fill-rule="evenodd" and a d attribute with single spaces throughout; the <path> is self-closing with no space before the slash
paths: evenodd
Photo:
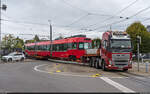
<path id="1" fill-rule="evenodd" d="M 150 78 L 49 73 L 50 61 L 0 64 L 0 92 L 150 92 Z"/>

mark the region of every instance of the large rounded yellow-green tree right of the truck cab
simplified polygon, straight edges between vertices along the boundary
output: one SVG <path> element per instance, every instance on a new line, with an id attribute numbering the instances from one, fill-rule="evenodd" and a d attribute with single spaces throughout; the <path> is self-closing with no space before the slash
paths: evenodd
<path id="1" fill-rule="evenodd" d="M 137 53 L 137 36 L 141 36 L 140 52 L 150 52 L 150 33 L 140 22 L 132 23 L 127 29 L 127 33 L 130 35 L 134 49 L 133 52 Z"/>

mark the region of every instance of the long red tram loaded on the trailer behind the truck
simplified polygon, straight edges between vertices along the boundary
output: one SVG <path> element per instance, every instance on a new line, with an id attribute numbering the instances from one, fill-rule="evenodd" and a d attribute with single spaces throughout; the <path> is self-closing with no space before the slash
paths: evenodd
<path id="1" fill-rule="evenodd" d="M 50 41 L 25 44 L 25 53 L 36 58 L 59 58 L 76 61 L 85 50 L 91 48 L 92 40 L 86 36 L 72 36 L 52 42 L 52 56 L 50 55 Z"/>

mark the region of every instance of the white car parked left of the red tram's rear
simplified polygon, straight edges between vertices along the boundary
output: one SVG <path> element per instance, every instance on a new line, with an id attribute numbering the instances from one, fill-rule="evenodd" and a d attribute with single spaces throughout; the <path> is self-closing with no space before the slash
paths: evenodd
<path id="1" fill-rule="evenodd" d="M 25 55 L 21 52 L 12 52 L 8 55 L 2 56 L 2 60 L 6 62 L 24 61 Z"/>

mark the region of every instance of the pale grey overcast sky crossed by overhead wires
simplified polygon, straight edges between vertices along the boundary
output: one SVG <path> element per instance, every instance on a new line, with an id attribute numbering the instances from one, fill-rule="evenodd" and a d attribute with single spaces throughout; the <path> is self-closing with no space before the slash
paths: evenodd
<path id="1" fill-rule="evenodd" d="M 13 34 L 25 40 L 35 34 L 48 39 L 48 20 L 53 39 L 77 34 L 101 38 L 110 25 L 112 30 L 125 30 L 134 21 L 150 23 L 150 0 L 2 0 L 2 4 L 7 5 L 2 11 L 2 36 Z"/>

